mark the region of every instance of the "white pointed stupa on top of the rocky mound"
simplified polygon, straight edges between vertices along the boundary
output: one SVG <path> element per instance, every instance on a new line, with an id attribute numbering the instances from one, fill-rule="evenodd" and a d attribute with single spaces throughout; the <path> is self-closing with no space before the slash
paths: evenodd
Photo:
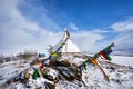
<path id="1" fill-rule="evenodd" d="M 57 49 L 62 43 L 63 43 L 62 48 L 60 48 L 60 50 L 57 51 Z M 80 53 L 79 47 L 72 42 L 72 40 L 70 38 L 70 33 L 66 29 L 64 30 L 63 39 L 61 39 L 60 42 L 53 47 L 52 52 L 55 52 L 55 51 L 58 53 Z"/>

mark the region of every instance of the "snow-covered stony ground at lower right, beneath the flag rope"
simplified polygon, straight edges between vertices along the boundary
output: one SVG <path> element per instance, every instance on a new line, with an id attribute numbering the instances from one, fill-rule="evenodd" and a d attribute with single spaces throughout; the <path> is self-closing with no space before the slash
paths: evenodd
<path id="1" fill-rule="evenodd" d="M 104 65 L 106 67 L 106 65 Z M 83 71 L 82 79 L 89 89 L 133 89 L 133 72 L 127 67 L 116 66 L 114 70 L 102 68 L 110 77 L 110 81 L 104 79 L 103 73 L 99 68 L 91 65 L 88 70 Z M 109 67 L 109 66 L 108 66 Z M 115 66 L 111 66 L 115 67 Z"/>

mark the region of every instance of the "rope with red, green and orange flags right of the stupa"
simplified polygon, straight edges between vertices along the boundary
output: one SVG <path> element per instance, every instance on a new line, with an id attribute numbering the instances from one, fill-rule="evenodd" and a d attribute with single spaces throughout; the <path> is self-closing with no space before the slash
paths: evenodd
<path id="1" fill-rule="evenodd" d="M 105 73 L 105 71 L 102 69 L 102 67 L 100 66 L 99 61 L 96 60 L 99 57 L 102 57 L 102 59 L 109 60 L 111 61 L 112 58 L 110 57 L 110 53 L 113 52 L 112 51 L 112 47 L 114 47 L 114 43 L 111 43 L 110 46 L 108 46 L 106 48 L 104 48 L 102 51 L 98 52 L 96 55 L 94 55 L 93 57 L 88 57 L 88 60 L 84 61 L 81 66 L 79 66 L 80 71 L 82 71 L 83 69 L 86 70 L 86 63 L 93 63 L 94 66 L 98 66 L 98 68 L 102 71 L 102 73 L 104 75 L 104 78 L 109 81 L 109 76 Z"/>

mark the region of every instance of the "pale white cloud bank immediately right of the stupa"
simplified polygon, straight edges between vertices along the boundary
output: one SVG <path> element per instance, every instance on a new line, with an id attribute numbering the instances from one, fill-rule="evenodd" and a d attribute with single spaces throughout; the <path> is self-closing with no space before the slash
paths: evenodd
<path id="1" fill-rule="evenodd" d="M 75 43 L 80 47 L 81 51 L 98 52 L 103 47 L 109 44 L 109 42 L 98 42 L 105 38 L 105 36 L 92 32 L 92 31 L 79 31 L 76 33 L 71 33 Z"/>

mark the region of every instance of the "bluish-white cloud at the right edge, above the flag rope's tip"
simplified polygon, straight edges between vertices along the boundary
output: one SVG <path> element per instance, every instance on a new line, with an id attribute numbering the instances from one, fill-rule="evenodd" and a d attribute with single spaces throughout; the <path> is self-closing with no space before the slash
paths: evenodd
<path id="1" fill-rule="evenodd" d="M 112 28 L 119 32 L 114 39 L 116 49 L 133 49 L 133 20 L 114 23 Z"/>

